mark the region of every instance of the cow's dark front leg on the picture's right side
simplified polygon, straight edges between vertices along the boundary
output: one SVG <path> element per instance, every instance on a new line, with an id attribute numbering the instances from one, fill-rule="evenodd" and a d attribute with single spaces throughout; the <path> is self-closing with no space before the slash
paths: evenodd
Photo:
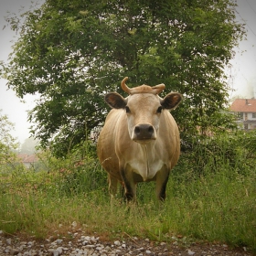
<path id="1" fill-rule="evenodd" d="M 165 190 L 168 182 L 170 171 L 167 168 L 162 168 L 156 174 L 156 196 L 160 201 L 165 201 Z"/>

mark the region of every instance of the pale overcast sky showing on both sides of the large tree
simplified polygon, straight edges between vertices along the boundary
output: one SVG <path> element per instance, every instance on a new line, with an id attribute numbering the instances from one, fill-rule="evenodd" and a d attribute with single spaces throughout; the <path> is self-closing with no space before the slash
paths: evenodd
<path id="1" fill-rule="evenodd" d="M 43 2 L 43 0 L 38 0 Z M 6 26 L 5 16 L 7 12 L 18 14 L 20 7 L 24 6 L 28 10 L 31 0 L 0 0 L 0 60 L 6 61 L 16 34 Z M 240 95 L 251 97 L 252 86 L 256 87 L 256 1 L 238 0 L 238 20 L 244 20 L 248 30 L 247 40 L 240 42 L 240 47 L 236 48 L 237 54 L 231 61 L 232 68 L 229 69 L 230 97 Z M 12 133 L 20 143 L 29 137 L 29 126 L 27 123 L 27 111 L 33 108 L 33 96 L 27 96 L 27 103 L 22 103 L 14 91 L 6 90 L 6 80 L 0 80 L 0 109 L 2 114 L 6 114 L 11 123 L 15 124 L 15 131 Z"/>

